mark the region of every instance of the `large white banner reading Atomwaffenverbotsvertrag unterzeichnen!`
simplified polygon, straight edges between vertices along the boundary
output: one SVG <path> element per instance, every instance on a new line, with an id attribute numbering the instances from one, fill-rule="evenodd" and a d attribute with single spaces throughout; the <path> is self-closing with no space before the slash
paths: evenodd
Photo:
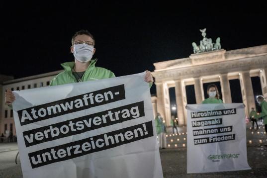
<path id="1" fill-rule="evenodd" d="M 23 178 L 163 178 L 144 76 L 13 91 Z"/>

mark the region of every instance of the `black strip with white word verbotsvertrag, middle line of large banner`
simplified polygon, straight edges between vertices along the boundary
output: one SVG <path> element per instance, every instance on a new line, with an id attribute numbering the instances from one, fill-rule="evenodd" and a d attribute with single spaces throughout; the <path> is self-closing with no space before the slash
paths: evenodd
<path id="1" fill-rule="evenodd" d="M 144 101 L 23 132 L 26 147 L 145 116 Z"/>

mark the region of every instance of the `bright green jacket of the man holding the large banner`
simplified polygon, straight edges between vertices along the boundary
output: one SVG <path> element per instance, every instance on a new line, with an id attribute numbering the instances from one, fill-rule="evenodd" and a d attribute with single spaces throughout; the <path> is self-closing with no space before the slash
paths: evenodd
<path id="1" fill-rule="evenodd" d="M 91 60 L 89 67 L 83 75 L 83 82 L 115 77 L 113 72 L 101 67 L 95 67 L 94 65 L 96 61 L 97 59 Z M 74 64 L 75 62 L 66 62 L 61 64 L 61 66 L 64 68 L 64 71 L 59 73 L 51 80 L 50 86 L 76 83 L 77 81 L 72 73 L 72 68 L 74 67 Z"/>

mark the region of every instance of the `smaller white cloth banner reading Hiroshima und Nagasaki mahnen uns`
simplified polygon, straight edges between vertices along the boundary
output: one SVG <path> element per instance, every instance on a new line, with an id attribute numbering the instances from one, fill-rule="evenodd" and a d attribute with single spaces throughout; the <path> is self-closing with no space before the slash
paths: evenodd
<path id="1" fill-rule="evenodd" d="M 187 105 L 187 173 L 250 170 L 243 103 Z"/>

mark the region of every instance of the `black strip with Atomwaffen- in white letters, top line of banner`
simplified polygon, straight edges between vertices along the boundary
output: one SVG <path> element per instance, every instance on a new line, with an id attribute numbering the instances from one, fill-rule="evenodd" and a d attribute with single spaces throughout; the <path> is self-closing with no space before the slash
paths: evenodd
<path id="1" fill-rule="evenodd" d="M 18 110 L 17 113 L 22 126 L 122 99 L 125 99 L 124 85 L 119 85 Z"/>

